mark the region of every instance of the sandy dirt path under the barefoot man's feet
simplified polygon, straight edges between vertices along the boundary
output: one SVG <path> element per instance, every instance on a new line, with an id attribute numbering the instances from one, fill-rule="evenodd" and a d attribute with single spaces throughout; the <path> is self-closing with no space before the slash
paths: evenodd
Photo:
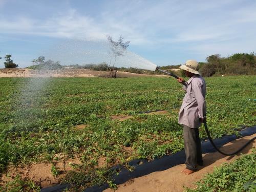
<path id="1" fill-rule="evenodd" d="M 225 144 L 221 149 L 224 152 L 233 152 L 246 143 L 249 139 L 255 137 L 256 134 L 240 138 L 236 141 L 231 141 Z M 250 143 L 241 153 L 250 154 L 256 142 Z M 200 180 L 207 173 L 211 173 L 215 166 L 220 166 L 223 163 L 230 163 L 238 156 L 224 156 L 220 153 L 208 153 L 203 155 L 204 166 L 200 166 L 198 172 L 191 175 L 183 175 L 181 171 L 184 164 L 174 166 L 162 172 L 154 172 L 146 176 L 131 179 L 123 184 L 118 185 L 117 192 L 172 192 L 183 191 L 183 186 L 194 188 L 194 182 Z M 113 191 L 111 189 L 104 190 L 105 192 Z"/>

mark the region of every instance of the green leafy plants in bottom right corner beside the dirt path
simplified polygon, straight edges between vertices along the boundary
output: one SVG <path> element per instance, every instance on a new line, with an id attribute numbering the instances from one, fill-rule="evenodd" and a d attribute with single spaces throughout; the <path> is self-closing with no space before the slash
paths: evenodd
<path id="1" fill-rule="evenodd" d="M 230 164 L 216 167 L 214 172 L 207 174 L 197 182 L 196 189 L 187 189 L 186 192 L 210 191 L 249 191 L 256 190 L 256 153 L 243 155 Z"/>

